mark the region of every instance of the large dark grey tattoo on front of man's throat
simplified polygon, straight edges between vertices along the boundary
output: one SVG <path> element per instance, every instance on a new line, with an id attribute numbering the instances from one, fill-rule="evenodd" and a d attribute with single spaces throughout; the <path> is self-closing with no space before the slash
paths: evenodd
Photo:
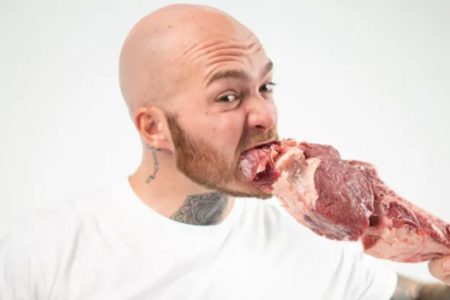
<path id="1" fill-rule="evenodd" d="M 213 225 L 222 220 L 228 196 L 219 193 L 190 195 L 170 218 L 193 225 Z"/>

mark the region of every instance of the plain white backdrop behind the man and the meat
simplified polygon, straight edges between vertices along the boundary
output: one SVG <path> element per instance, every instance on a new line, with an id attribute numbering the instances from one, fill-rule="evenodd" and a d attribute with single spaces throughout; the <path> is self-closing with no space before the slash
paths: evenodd
<path id="1" fill-rule="evenodd" d="M 118 55 L 134 23 L 169 3 L 1 0 L 0 233 L 138 166 Z M 196 3 L 265 45 L 281 136 L 376 164 L 399 194 L 450 221 L 449 1 Z M 431 280 L 424 263 L 387 264 Z"/>

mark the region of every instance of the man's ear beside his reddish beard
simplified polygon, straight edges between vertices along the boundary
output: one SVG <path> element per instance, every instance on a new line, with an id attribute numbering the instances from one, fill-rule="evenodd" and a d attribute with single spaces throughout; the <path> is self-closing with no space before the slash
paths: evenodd
<path id="1" fill-rule="evenodd" d="M 134 115 L 134 124 L 144 143 L 173 151 L 170 130 L 161 109 L 155 106 L 139 108 Z"/>

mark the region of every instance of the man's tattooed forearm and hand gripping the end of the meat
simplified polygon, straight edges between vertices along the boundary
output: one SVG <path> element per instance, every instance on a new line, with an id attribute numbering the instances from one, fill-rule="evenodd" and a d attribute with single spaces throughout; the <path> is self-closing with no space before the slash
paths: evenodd
<path id="1" fill-rule="evenodd" d="M 432 260 L 428 268 L 444 284 L 420 283 L 399 275 L 391 300 L 450 300 L 450 257 Z"/>

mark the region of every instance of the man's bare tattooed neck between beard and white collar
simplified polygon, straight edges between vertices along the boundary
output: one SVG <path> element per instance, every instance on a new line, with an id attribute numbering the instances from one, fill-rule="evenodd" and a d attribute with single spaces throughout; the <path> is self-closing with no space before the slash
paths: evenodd
<path id="1" fill-rule="evenodd" d="M 129 177 L 132 189 L 147 206 L 174 221 L 195 225 L 217 224 L 229 214 L 234 199 L 190 180 L 176 168 L 172 153 L 148 154 Z"/>

